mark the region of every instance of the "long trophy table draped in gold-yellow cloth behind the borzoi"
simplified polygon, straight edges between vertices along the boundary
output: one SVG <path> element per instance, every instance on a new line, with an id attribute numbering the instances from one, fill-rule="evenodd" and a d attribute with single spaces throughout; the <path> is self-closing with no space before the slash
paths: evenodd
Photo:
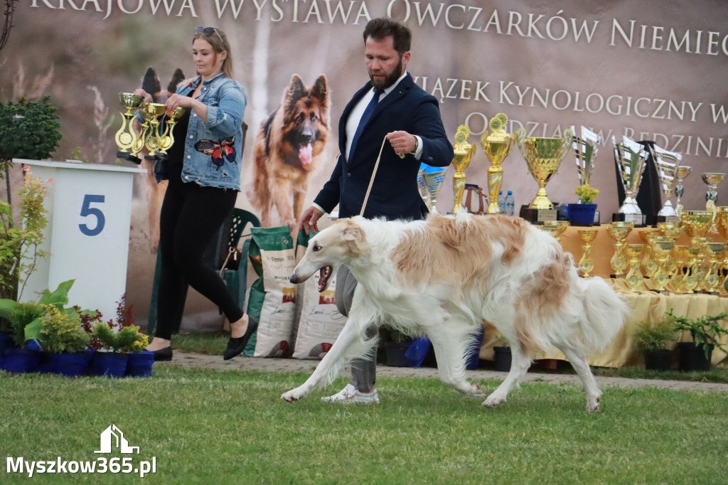
<path id="1" fill-rule="evenodd" d="M 561 245 L 564 251 L 574 255 L 574 261 L 578 264 L 582 257 L 582 241 L 579 238 L 579 229 L 596 229 L 598 231 L 596 239 L 593 240 L 591 256 L 594 259 L 594 271 L 592 275 L 604 277 L 607 283 L 621 295 L 625 296 L 632 309 L 632 314 L 625 321 L 625 325 L 620 332 L 614 337 L 609 347 L 600 354 L 593 355 L 589 359 L 589 363 L 599 367 L 623 367 L 623 366 L 641 366 L 644 360 L 639 352 L 633 339 L 634 332 L 638 323 L 644 321 L 659 321 L 665 315 L 665 312 L 672 309 L 676 315 L 685 315 L 688 318 L 697 318 L 702 315 L 716 315 L 721 312 L 728 312 L 728 295 L 708 295 L 704 293 L 681 294 L 681 293 L 655 293 L 649 291 L 649 281 L 645 280 L 643 291 L 628 291 L 627 285 L 623 278 L 610 278 L 612 267 L 609 260 L 614 254 L 614 239 L 609 236 L 607 227 L 609 224 L 601 226 L 593 226 L 591 228 L 569 226 L 561 237 Z M 635 228 L 628 236 L 626 242 L 628 244 L 642 244 L 639 233 L 644 231 L 654 231 L 654 227 Z M 725 242 L 724 238 L 715 232 L 707 234 L 716 242 Z M 689 237 L 682 234 L 676 244 L 689 245 Z M 728 324 L 724 324 L 726 326 Z M 480 349 L 480 358 L 485 360 L 493 360 L 493 347 L 496 345 L 496 331 L 491 326 L 486 326 L 486 333 L 483 336 L 483 347 Z M 678 341 L 689 342 L 689 334 L 678 336 Z M 723 337 L 721 343 L 728 348 L 728 337 Z M 558 350 L 548 355 L 537 356 L 537 359 L 558 359 L 566 360 L 566 357 Z M 728 355 L 721 350 L 713 350 L 712 358 L 713 366 L 728 364 Z"/>

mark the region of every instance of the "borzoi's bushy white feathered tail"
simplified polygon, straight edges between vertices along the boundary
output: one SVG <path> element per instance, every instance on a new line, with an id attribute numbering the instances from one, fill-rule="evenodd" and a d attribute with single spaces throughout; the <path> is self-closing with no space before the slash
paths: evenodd
<path id="1" fill-rule="evenodd" d="M 592 352 L 603 351 L 630 313 L 624 297 L 618 295 L 601 277 L 577 277 L 585 318 L 579 321 L 584 344 Z"/>

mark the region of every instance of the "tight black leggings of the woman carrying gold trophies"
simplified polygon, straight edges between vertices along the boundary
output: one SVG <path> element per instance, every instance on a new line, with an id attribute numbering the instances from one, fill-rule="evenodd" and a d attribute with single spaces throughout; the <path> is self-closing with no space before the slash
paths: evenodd
<path id="1" fill-rule="evenodd" d="M 237 199 L 234 189 L 199 186 L 181 181 L 181 163 L 169 163 L 170 181 L 159 216 L 159 250 L 162 272 L 157 299 L 157 329 L 154 336 L 171 339 L 175 318 L 190 285 L 220 307 L 229 322 L 240 320 L 242 309 L 235 303 L 222 278 L 202 256 Z"/>

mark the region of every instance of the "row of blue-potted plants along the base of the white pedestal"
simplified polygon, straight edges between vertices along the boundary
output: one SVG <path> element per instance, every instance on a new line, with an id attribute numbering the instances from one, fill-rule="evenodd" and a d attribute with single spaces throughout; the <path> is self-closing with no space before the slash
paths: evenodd
<path id="1" fill-rule="evenodd" d="M 66 376 L 149 376 L 154 353 L 134 325 L 134 312 L 117 302 L 116 319 L 100 312 L 68 307 L 74 280 L 44 291 L 38 301 L 0 299 L 0 317 L 9 332 L 0 334 L 0 368 L 4 371 L 52 372 Z"/>

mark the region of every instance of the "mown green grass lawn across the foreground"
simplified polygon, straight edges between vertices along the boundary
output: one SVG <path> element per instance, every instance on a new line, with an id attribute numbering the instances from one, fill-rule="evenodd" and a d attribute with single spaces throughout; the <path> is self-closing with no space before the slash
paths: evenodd
<path id="1" fill-rule="evenodd" d="M 0 483 L 725 484 L 728 396 L 524 384 L 496 409 L 437 379 L 385 378 L 378 406 L 280 394 L 306 374 L 157 365 L 151 378 L 0 373 L 0 454 L 25 460 L 156 459 L 157 472 L 36 474 Z M 340 378 L 328 391 L 339 390 Z M 499 381 L 481 381 L 486 393 Z M 114 424 L 140 454 L 95 454 Z"/>

